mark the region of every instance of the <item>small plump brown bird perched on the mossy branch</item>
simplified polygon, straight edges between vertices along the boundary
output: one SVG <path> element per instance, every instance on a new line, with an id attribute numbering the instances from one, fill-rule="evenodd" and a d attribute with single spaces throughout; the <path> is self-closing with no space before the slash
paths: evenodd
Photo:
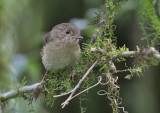
<path id="1" fill-rule="evenodd" d="M 43 37 L 42 63 L 47 71 L 72 66 L 80 56 L 80 30 L 71 23 L 58 24 Z"/>

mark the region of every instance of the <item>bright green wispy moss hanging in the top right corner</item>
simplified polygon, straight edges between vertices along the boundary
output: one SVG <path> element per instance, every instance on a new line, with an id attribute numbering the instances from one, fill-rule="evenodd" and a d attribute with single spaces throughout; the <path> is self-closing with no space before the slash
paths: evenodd
<path id="1" fill-rule="evenodd" d="M 146 40 L 148 46 L 160 46 L 160 23 L 159 18 L 155 13 L 152 0 L 138 1 L 139 14 L 141 18 L 141 29 L 143 31 L 142 40 Z"/>

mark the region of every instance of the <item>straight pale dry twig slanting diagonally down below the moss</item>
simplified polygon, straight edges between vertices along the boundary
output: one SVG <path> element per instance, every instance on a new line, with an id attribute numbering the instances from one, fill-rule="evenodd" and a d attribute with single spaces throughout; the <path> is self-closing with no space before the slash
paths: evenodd
<path id="1" fill-rule="evenodd" d="M 74 89 L 72 90 L 72 93 L 70 94 L 70 96 L 61 104 L 62 108 L 64 108 L 69 101 L 71 100 L 73 94 L 76 92 L 76 90 L 80 87 L 81 83 L 84 81 L 84 79 L 87 77 L 87 75 L 91 72 L 91 70 L 96 66 L 96 64 L 98 63 L 99 60 L 96 60 L 92 66 L 87 70 L 87 72 L 84 74 L 84 76 L 80 79 L 80 81 L 78 82 L 78 84 L 74 87 Z"/>

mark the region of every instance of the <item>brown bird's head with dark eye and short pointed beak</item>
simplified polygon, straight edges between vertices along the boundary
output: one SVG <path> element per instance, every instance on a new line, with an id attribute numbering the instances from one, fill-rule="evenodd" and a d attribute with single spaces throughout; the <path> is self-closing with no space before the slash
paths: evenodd
<path id="1" fill-rule="evenodd" d="M 83 39 L 80 30 L 74 24 L 62 23 L 53 27 L 53 29 L 43 37 L 45 43 L 50 41 L 67 41 L 77 43 L 79 39 Z"/>

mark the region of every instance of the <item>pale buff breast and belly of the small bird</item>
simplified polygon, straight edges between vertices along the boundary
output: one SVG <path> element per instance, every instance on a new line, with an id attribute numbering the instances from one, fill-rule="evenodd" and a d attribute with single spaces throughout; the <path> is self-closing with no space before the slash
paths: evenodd
<path id="1" fill-rule="evenodd" d="M 69 42 L 49 42 L 42 50 L 42 62 L 46 70 L 59 70 L 73 65 L 79 59 L 79 44 Z"/>

